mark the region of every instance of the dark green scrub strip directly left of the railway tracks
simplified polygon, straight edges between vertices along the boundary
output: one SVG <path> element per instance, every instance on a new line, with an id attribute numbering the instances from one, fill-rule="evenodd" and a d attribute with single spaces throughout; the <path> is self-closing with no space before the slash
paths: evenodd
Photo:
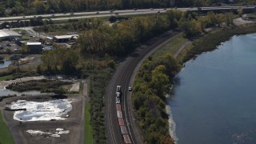
<path id="1" fill-rule="evenodd" d="M 106 126 L 104 114 L 103 96 L 110 75 L 113 70 L 110 68 L 96 67 L 90 75 L 90 121 L 93 128 L 94 143 L 106 143 Z"/>

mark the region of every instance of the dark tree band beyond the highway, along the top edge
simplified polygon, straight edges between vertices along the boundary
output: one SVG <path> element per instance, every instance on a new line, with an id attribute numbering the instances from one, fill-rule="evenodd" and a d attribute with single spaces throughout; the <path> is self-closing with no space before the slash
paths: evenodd
<path id="1" fill-rule="evenodd" d="M 133 9 L 133 8 L 165 8 L 187 6 L 219 6 L 229 3 L 228 0 L 2 0 L 0 16 L 53 14 L 77 11 Z M 254 0 L 234 0 L 242 5 L 256 5 Z"/>

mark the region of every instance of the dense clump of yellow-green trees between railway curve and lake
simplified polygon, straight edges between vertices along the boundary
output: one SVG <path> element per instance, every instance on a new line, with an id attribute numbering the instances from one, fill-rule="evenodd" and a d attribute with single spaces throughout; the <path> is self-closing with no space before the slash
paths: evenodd
<path id="1" fill-rule="evenodd" d="M 148 58 L 136 75 L 132 101 L 145 143 L 174 143 L 169 134 L 165 97 L 180 70 L 172 55 Z"/>

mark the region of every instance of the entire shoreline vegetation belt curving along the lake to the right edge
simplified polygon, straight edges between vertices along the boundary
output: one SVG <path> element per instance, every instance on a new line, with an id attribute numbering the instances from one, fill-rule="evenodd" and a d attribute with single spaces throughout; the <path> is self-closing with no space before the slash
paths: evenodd
<path id="1" fill-rule="evenodd" d="M 178 48 L 171 45 L 181 45 L 173 39 L 166 44 L 170 49 L 163 46 L 142 63 L 135 77 L 132 102 L 134 115 L 142 130 L 145 143 L 174 143 L 174 139 L 169 135 L 170 124 L 164 96 L 169 91 L 174 75 L 181 70 L 182 64 L 191 58 L 196 58 L 198 54 L 217 49 L 221 42 L 227 41 L 234 35 L 255 33 L 255 27 L 254 24 L 226 26 L 213 30 L 196 38 L 192 45 L 182 50 L 179 54 L 181 56 L 177 59 L 173 58 L 173 54 Z"/>

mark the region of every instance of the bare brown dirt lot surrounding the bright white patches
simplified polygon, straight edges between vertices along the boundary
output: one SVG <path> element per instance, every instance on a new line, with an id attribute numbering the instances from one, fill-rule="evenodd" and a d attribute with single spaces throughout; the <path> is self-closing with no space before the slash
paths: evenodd
<path id="1" fill-rule="evenodd" d="M 41 121 L 41 122 L 18 122 L 14 120 L 14 112 L 4 110 L 6 104 L 10 102 L 16 102 L 18 99 L 24 99 L 28 101 L 42 102 L 49 101 L 55 98 L 50 96 L 22 96 L 6 98 L 0 102 L 0 110 L 2 110 L 3 118 L 10 128 L 10 132 L 14 137 L 16 144 L 55 144 L 55 143 L 83 143 L 83 127 L 84 123 L 82 121 L 82 96 L 70 95 L 67 96 L 68 99 L 72 99 L 72 110 L 68 113 L 69 118 L 60 121 Z M 26 130 L 42 130 L 46 132 L 56 131 L 56 128 L 63 128 L 65 130 L 70 130 L 69 134 L 61 134 L 60 137 L 54 138 L 49 137 L 44 134 L 29 134 Z"/>

